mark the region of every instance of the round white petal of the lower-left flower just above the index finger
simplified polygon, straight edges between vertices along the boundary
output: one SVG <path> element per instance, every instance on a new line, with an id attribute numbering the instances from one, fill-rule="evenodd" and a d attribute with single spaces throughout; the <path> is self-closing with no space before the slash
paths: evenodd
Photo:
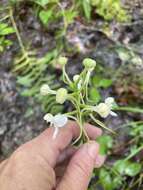
<path id="1" fill-rule="evenodd" d="M 54 117 L 54 126 L 55 127 L 63 127 L 68 121 L 67 116 L 62 114 L 57 114 Z"/>

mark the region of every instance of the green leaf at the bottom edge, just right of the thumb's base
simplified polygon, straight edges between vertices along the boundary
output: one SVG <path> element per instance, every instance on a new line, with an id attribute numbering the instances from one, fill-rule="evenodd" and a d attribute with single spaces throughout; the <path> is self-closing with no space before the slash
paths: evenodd
<path id="1" fill-rule="evenodd" d="M 110 173 L 102 168 L 99 173 L 99 180 L 101 182 L 101 185 L 105 190 L 112 190 L 113 189 L 113 183 Z"/>

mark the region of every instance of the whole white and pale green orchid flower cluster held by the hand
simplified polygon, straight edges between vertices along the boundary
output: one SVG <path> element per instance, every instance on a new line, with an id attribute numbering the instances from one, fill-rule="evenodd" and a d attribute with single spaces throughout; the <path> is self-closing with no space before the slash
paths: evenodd
<path id="1" fill-rule="evenodd" d="M 81 141 L 88 141 L 89 137 L 84 129 L 84 123 L 88 121 L 88 118 L 92 119 L 101 127 L 108 129 L 104 123 L 96 118 L 96 115 L 100 115 L 102 118 L 106 118 L 108 115 L 116 116 L 117 114 L 112 111 L 114 106 L 114 98 L 108 97 L 104 102 L 95 105 L 93 101 L 89 99 L 89 85 L 91 73 L 96 66 L 96 61 L 90 58 L 83 60 L 84 69 L 79 75 L 73 76 L 70 79 L 68 76 L 65 65 L 68 59 L 66 57 L 60 57 L 58 63 L 62 66 L 63 82 L 67 85 L 67 88 L 60 88 L 58 90 L 52 90 L 48 84 L 43 84 L 40 93 L 43 96 L 53 95 L 56 102 L 63 104 L 65 101 L 70 101 L 73 105 L 73 111 L 65 114 L 57 114 L 53 116 L 47 113 L 44 116 L 44 120 L 50 123 L 55 128 L 53 139 L 56 138 L 59 128 L 66 126 L 68 118 L 75 120 L 80 128 L 80 135 L 74 143 Z M 110 129 L 108 129 L 110 130 Z"/>

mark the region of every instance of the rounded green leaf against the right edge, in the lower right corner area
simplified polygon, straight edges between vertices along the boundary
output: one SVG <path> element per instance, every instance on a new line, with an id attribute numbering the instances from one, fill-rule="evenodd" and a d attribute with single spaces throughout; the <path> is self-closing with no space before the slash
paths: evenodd
<path id="1" fill-rule="evenodd" d="M 128 167 L 125 169 L 125 174 L 134 177 L 141 171 L 141 164 L 139 163 L 131 163 L 128 165 Z"/>

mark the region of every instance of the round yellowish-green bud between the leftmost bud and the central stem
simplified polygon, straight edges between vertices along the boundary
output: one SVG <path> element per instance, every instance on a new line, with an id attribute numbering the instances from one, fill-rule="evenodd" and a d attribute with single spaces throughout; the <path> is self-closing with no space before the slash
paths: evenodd
<path id="1" fill-rule="evenodd" d="M 68 93 L 65 88 L 58 89 L 56 93 L 56 102 L 58 102 L 59 104 L 63 104 L 66 101 L 67 96 Z"/>

